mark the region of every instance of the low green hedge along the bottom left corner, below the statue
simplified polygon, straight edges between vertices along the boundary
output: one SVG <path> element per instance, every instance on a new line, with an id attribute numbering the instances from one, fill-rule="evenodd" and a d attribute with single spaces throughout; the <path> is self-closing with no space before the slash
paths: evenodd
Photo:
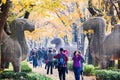
<path id="1" fill-rule="evenodd" d="M 13 71 L 4 71 L 0 74 L 0 79 L 5 80 L 52 80 L 44 75 L 37 73 L 25 73 L 25 72 L 13 72 Z"/>

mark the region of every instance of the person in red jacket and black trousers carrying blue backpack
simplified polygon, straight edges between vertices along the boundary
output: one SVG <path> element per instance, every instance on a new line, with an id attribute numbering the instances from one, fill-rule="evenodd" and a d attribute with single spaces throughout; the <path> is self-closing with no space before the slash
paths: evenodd
<path id="1" fill-rule="evenodd" d="M 60 80 L 66 80 L 65 71 L 66 71 L 66 63 L 68 61 L 68 57 L 64 54 L 63 48 L 60 48 L 60 53 L 54 56 L 54 58 L 58 59 L 58 74 Z"/>

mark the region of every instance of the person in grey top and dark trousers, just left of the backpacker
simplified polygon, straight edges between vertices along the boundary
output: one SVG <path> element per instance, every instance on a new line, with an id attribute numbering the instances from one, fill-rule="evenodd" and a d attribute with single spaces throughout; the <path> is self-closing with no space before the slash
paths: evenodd
<path id="1" fill-rule="evenodd" d="M 48 60 L 48 63 L 47 63 L 47 74 L 49 74 L 49 70 L 50 70 L 50 73 L 53 74 L 53 53 L 51 50 L 48 51 L 48 54 L 47 54 L 47 60 Z"/>

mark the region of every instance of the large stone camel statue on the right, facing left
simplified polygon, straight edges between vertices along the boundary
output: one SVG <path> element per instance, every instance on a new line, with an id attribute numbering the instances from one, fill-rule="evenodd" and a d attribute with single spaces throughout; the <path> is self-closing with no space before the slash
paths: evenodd
<path id="1" fill-rule="evenodd" d="M 83 30 L 94 31 L 91 35 L 90 52 L 100 68 L 108 68 L 113 58 L 120 59 L 120 25 L 116 24 L 113 31 L 106 35 L 106 22 L 101 17 L 94 17 L 83 23 Z M 117 55 L 117 57 L 116 57 Z"/>

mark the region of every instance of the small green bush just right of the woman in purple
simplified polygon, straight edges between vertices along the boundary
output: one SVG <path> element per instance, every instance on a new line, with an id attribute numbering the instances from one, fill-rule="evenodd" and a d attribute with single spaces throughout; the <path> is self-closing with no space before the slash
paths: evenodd
<path id="1" fill-rule="evenodd" d="M 84 64 L 83 74 L 86 76 L 94 75 L 95 67 L 93 65 Z"/>

